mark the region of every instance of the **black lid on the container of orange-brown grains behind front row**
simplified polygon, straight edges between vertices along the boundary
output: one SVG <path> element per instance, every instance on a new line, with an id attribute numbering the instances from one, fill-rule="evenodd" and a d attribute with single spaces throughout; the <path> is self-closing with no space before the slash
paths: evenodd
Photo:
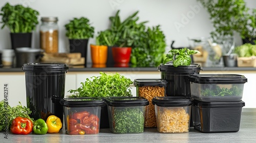
<path id="1" fill-rule="evenodd" d="M 134 86 L 166 86 L 167 81 L 163 79 L 135 79 L 133 84 Z"/>

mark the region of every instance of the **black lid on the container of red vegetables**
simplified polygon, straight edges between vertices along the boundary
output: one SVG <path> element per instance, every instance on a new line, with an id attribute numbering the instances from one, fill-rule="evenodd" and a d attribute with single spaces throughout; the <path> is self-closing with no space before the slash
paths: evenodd
<path id="1" fill-rule="evenodd" d="M 105 105 L 101 98 L 63 98 L 59 103 L 66 107 L 96 107 Z"/>

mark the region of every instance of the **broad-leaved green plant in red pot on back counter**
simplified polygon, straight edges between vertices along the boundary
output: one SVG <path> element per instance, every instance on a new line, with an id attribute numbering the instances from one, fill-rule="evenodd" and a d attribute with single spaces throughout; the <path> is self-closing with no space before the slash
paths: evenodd
<path id="1" fill-rule="evenodd" d="M 120 10 L 116 12 L 115 16 L 110 17 L 111 27 L 99 32 L 99 37 L 103 44 L 110 47 L 111 52 L 108 52 L 108 59 L 113 57 L 116 66 L 129 66 L 132 47 L 135 41 L 139 39 L 139 34 L 144 32 L 144 23 L 147 21 L 137 22 L 139 19 L 136 16 L 138 11 L 121 21 L 119 12 Z"/>

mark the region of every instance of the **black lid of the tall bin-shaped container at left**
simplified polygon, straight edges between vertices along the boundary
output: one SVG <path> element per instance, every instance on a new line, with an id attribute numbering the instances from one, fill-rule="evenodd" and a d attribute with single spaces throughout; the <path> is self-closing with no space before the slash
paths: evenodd
<path id="1" fill-rule="evenodd" d="M 56 73 L 66 72 L 69 66 L 65 63 L 26 63 L 23 64 L 22 70 L 25 72 L 41 72 Z"/>

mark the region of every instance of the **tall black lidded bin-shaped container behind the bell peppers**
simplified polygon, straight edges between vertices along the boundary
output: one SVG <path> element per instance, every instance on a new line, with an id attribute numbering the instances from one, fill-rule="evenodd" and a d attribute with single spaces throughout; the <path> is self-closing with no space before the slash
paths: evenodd
<path id="1" fill-rule="evenodd" d="M 27 63 L 25 72 L 27 107 L 34 120 L 47 120 L 56 115 L 63 123 L 63 107 L 60 100 L 65 94 L 65 77 L 69 66 L 64 63 Z"/>

